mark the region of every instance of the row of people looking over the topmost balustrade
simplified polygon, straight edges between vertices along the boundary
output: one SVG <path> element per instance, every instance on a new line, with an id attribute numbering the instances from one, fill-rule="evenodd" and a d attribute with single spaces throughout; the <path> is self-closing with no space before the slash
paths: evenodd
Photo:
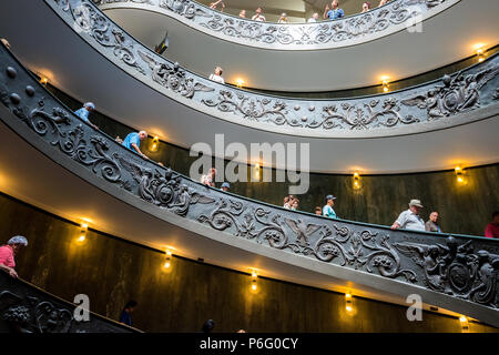
<path id="1" fill-rule="evenodd" d="M 384 4 L 386 4 L 388 1 L 390 0 L 380 0 L 378 3 L 378 8 L 383 7 Z M 211 2 L 210 3 L 210 8 L 213 10 L 220 10 L 222 12 L 224 12 L 225 10 L 225 2 L 224 0 L 217 0 L 215 2 Z M 371 9 L 370 2 L 364 2 L 360 13 L 367 12 Z M 339 8 L 339 1 L 338 0 L 333 0 L 329 4 L 326 4 L 325 9 L 324 9 L 324 14 L 323 18 L 325 20 L 336 20 L 336 19 L 340 19 L 345 17 L 345 11 L 343 11 L 343 9 Z M 240 18 L 245 19 L 246 18 L 246 10 L 241 10 L 240 11 Z M 315 12 L 314 14 L 312 14 L 312 17 L 307 20 L 308 23 L 310 22 L 317 22 L 319 19 L 319 14 L 318 12 Z M 265 22 L 265 16 L 263 14 L 263 9 L 261 7 L 256 8 L 255 10 L 255 14 L 252 17 L 253 21 L 259 21 L 259 22 Z M 277 21 L 277 23 L 289 23 L 288 18 L 286 12 L 281 13 L 281 17 Z"/>

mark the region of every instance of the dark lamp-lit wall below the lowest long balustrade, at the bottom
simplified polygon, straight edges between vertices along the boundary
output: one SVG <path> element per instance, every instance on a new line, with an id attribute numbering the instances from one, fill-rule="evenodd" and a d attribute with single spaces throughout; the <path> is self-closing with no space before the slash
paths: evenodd
<path id="1" fill-rule="evenodd" d="M 136 300 L 134 325 L 147 332 L 197 332 L 213 318 L 217 332 L 461 332 L 455 317 L 425 312 L 408 322 L 406 307 L 358 298 L 353 315 L 345 297 L 328 291 L 251 276 L 181 257 L 165 271 L 164 254 L 89 231 L 0 194 L 0 243 L 14 234 L 29 245 L 16 258 L 19 275 L 62 297 L 90 296 L 91 311 L 116 318 Z M 471 332 L 498 329 L 470 323 Z"/>

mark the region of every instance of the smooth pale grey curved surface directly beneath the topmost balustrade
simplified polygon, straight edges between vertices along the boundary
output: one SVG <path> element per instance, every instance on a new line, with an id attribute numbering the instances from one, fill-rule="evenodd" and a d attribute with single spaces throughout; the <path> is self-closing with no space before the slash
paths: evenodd
<path id="1" fill-rule="evenodd" d="M 132 4 L 131 4 L 132 6 Z M 262 50 L 201 33 L 162 13 L 112 9 L 105 13 L 153 48 L 169 30 L 165 55 L 208 77 L 224 68 L 226 82 L 243 78 L 248 88 L 328 91 L 380 84 L 425 73 L 475 53 L 475 45 L 499 43 L 499 1 L 459 1 L 426 20 L 422 32 L 400 31 L 371 42 L 315 51 Z"/>

